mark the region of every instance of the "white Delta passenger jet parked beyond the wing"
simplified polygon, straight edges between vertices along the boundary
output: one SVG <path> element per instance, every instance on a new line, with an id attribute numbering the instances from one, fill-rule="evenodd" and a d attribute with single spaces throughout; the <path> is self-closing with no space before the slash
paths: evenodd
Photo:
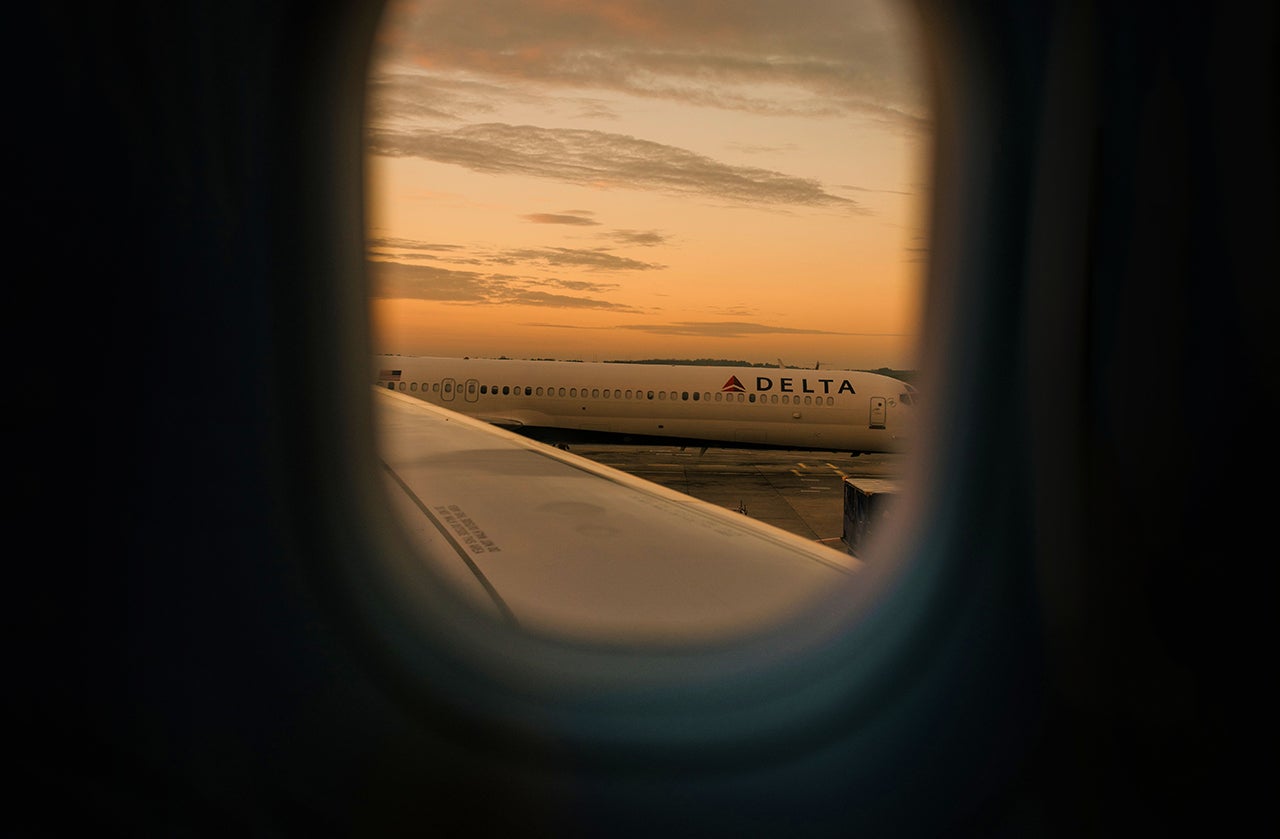
<path id="1" fill-rule="evenodd" d="M 915 388 L 860 370 L 374 356 L 374 383 L 539 439 L 901 452 Z"/>

